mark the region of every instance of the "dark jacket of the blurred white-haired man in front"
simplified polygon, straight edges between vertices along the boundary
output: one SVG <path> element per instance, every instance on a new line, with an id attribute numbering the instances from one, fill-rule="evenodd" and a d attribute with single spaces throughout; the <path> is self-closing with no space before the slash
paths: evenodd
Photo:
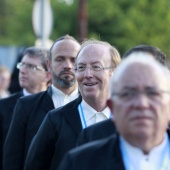
<path id="1" fill-rule="evenodd" d="M 118 136 L 111 135 L 69 151 L 56 170 L 125 170 Z"/>

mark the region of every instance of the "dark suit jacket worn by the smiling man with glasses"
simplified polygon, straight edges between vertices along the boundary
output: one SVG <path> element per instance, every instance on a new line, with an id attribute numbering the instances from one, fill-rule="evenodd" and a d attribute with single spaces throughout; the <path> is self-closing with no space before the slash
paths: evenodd
<path id="1" fill-rule="evenodd" d="M 54 170 L 63 155 L 76 146 L 82 130 L 77 109 L 81 100 L 80 96 L 47 114 L 30 145 L 25 170 Z"/>

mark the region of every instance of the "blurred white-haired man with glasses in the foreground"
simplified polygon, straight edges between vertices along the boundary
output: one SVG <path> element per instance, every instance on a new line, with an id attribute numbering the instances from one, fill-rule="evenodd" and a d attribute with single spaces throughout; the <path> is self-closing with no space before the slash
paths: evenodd
<path id="1" fill-rule="evenodd" d="M 68 152 L 57 170 L 169 169 L 170 73 L 148 52 L 123 60 L 107 101 L 118 134 Z"/>

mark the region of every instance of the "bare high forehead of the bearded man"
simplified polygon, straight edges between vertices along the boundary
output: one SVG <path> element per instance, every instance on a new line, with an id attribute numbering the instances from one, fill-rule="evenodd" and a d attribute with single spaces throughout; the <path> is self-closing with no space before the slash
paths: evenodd
<path id="1" fill-rule="evenodd" d="M 73 40 L 61 40 L 55 43 L 51 50 L 52 57 L 65 56 L 76 57 L 80 45 Z"/>

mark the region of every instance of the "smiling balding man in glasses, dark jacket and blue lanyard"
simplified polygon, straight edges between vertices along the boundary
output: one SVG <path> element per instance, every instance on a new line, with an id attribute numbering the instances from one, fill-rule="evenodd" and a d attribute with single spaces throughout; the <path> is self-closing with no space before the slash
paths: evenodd
<path id="1" fill-rule="evenodd" d="M 76 146 L 83 128 L 110 117 L 106 101 L 119 62 L 118 51 L 106 42 L 82 44 L 75 62 L 82 98 L 47 114 L 30 145 L 25 170 L 56 169 L 63 155 Z"/>

